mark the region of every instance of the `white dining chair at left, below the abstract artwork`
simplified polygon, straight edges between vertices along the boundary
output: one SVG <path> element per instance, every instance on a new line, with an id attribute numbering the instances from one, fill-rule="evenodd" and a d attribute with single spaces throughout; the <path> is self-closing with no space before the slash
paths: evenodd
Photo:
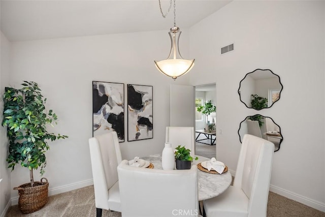
<path id="1" fill-rule="evenodd" d="M 115 131 L 89 139 L 96 216 L 103 209 L 121 211 L 117 166 L 122 161 Z"/>

